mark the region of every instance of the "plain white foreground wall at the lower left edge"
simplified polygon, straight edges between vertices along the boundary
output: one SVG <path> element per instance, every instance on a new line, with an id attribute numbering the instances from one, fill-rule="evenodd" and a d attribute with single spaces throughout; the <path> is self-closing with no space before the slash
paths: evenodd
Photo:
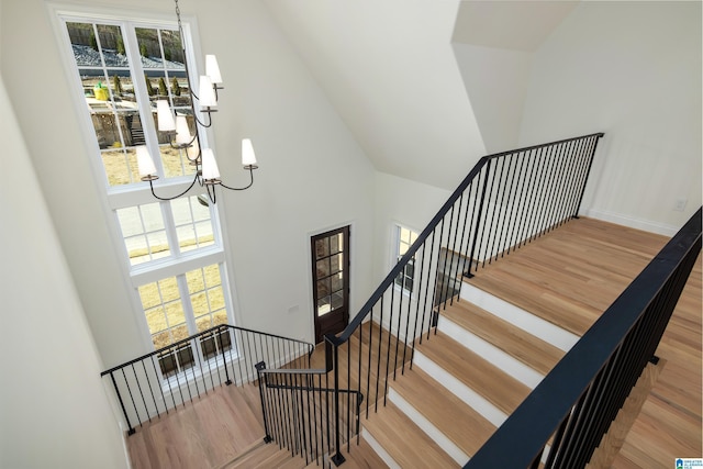
<path id="1" fill-rule="evenodd" d="M 101 364 L 0 77 L 0 467 L 126 468 Z"/>

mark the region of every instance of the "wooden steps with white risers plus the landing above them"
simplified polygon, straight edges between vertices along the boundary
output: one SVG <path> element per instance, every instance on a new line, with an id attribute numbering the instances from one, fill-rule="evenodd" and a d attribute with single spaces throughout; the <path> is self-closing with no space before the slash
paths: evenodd
<path id="1" fill-rule="evenodd" d="M 464 466 L 665 243 L 624 233 L 574 221 L 464 279 L 412 365 L 362 412 L 345 466 Z"/>

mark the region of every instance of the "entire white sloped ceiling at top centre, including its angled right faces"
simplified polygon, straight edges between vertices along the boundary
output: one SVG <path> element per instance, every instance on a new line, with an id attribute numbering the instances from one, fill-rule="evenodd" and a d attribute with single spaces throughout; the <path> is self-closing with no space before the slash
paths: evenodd
<path id="1" fill-rule="evenodd" d="M 266 5 L 375 167 L 445 189 L 488 149 L 516 142 L 525 54 L 573 8 L 459 0 Z"/>

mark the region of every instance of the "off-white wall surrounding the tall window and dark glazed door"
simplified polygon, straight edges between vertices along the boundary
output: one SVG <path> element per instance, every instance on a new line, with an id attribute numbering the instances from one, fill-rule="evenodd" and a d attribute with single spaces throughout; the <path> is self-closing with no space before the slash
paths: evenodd
<path id="1" fill-rule="evenodd" d="M 175 20 L 170 0 L 98 0 Z M 78 5 L 80 3 L 72 3 Z M 5 1 L 1 67 L 58 238 L 104 367 L 149 349 L 123 280 L 119 239 L 90 171 L 69 81 L 43 0 Z M 219 196 L 237 324 L 312 340 L 309 235 L 353 224 L 352 310 L 372 288 L 373 169 L 258 1 L 181 2 L 197 15 L 203 53 L 225 77 L 214 145 L 233 185 L 244 179 L 238 142 L 256 145 L 260 169 L 246 192 Z M 40 91 L 37 91 L 40 90 Z M 8 203 L 7 199 L 2 203 Z M 289 312 L 292 311 L 292 312 Z"/>

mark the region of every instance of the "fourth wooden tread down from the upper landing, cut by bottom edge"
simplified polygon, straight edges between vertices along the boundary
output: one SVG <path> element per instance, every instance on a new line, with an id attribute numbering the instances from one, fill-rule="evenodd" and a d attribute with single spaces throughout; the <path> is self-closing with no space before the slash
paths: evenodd
<path id="1" fill-rule="evenodd" d="M 365 429 L 402 468 L 450 468 L 459 465 L 392 403 L 364 421 Z"/>

